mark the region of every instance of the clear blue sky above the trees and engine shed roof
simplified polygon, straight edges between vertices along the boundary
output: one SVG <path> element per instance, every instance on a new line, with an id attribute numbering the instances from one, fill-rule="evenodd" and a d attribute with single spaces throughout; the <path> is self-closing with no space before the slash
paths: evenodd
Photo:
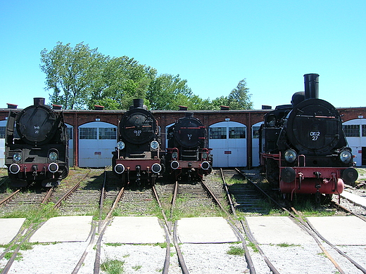
<path id="1" fill-rule="evenodd" d="M 320 98 L 366 107 L 365 0 L 0 0 L 0 107 L 45 97 L 40 52 L 80 42 L 179 74 L 201 98 L 246 79 L 255 109 L 290 103 L 303 74 Z"/>

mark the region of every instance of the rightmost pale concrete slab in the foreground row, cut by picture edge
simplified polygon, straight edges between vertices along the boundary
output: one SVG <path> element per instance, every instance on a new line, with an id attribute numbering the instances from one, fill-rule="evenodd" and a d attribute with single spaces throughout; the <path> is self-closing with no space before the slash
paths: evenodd
<path id="1" fill-rule="evenodd" d="M 366 245 L 366 223 L 356 216 L 308 217 L 308 220 L 332 244 Z"/>

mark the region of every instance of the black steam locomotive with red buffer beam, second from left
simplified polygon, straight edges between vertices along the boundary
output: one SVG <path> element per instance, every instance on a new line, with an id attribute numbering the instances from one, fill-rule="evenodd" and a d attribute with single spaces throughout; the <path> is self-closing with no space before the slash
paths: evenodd
<path id="1" fill-rule="evenodd" d="M 112 152 L 112 166 L 122 184 L 131 180 L 141 184 L 155 183 L 162 172 L 160 164 L 160 129 L 143 99 L 134 99 L 134 105 L 118 123 L 118 143 Z"/>

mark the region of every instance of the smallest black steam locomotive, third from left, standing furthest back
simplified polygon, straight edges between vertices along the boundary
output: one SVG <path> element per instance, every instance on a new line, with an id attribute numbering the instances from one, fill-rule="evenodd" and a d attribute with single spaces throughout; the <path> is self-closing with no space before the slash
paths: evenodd
<path id="1" fill-rule="evenodd" d="M 207 148 L 207 130 L 201 121 L 187 112 L 168 129 L 166 166 L 176 178 L 202 178 L 212 171 L 213 156 Z"/>

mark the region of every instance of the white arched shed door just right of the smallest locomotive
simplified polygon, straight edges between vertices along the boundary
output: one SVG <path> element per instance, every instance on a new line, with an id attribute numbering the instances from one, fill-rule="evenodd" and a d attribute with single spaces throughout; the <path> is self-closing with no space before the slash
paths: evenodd
<path id="1" fill-rule="evenodd" d="M 209 147 L 213 167 L 246 167 L 246 126 L 238 122 L 219 122 L 209 127 Z"/>

